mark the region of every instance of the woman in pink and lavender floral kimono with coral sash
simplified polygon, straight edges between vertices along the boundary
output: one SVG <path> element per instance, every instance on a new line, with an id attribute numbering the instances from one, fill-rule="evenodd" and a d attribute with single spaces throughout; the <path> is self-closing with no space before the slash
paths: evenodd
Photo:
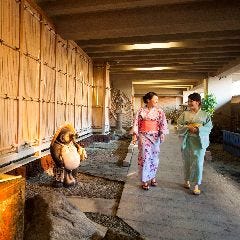
<path id="1" fill-rule="evenodd" d="M 133 144 L 138 140 L 138 165 L 140 167 L 142 188 L 149 189 L 157 186 L 156 173 L 159 164 L 160 143 L 168 134 L 168 126 L 165 114 L 157 106 L 158 96 L 149 92 L 143 97 L 146 104 L 136 113 L 133 125 Z"/>

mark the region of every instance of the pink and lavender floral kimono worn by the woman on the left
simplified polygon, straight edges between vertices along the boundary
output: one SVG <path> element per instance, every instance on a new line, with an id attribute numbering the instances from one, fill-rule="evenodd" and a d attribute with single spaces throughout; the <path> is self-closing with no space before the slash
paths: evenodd
<path id="1" fill-rule="evenodd" d="M 154 121 L 156 128 L 143 131 L 144 121 Z M 141 181 L 147 182 L 155 178 L 160 153 L 160 135 L 168 134 L 168 126 L 165 114 L 161 108 L 140 108 L 136 113 L 133 125 L 133 133 L 138 137 L 138 165 L 140 167 Z"/>

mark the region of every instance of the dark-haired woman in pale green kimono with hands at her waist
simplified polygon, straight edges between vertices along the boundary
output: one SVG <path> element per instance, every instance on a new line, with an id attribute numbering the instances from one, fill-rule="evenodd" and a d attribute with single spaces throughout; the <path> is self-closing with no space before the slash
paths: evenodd
<path id="1" fill-rule="evenodd" d="M 188 107 L 189 110 L 184 111 L 177 121 L 179 136 L 182 139 L 184 187 L 190 189 L 190 182 L 193 183 L 193 194 L 199 195 L 204 155 L 209 146 L 212 122 L 210 116 L 201 110 L 200 94 L 192 93 L 188 96 Z"/>

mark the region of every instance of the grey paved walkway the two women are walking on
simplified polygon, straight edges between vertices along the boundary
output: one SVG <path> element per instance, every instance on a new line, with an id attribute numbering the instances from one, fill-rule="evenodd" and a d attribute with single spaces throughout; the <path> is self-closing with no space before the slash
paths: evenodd
<path id="1" fill-rule="evenodd" d="M 181 185 L 178 141 L 171 129 L 161 147 L 159 185 L 149 191 L 139 187 L 137 154 L 133 153 L 117 215 L 151 240 L 239 239 L 239 186 L 205 163 L 202 194 L 192 195 Z"/>

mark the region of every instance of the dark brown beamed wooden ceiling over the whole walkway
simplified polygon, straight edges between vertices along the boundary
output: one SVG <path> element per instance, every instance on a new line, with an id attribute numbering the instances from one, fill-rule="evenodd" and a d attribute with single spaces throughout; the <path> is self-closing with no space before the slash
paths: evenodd
<path id="1" fill-rule="evenodd" d="M 76 41 L 93 61 L 109 62 L 113 81 L 132 80 L 136 89 L 186 90 L 239 63 L 238 0 L 36 2 L 62 37 Z M 149 43 L 176 46 L 129 50 L 133 44 Z M 135 70 L 149 67 L 167 69 Z"/>

